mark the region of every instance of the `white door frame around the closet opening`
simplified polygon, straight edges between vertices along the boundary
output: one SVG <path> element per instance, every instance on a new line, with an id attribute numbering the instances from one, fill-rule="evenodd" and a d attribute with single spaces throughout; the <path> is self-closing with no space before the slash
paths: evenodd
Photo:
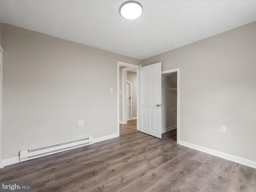
<path id="1" fill-rule="evenodd" d="M 180 143 L 180 68 L 162 71 L 162 74 L 177 72 L 177 143 Z"/>

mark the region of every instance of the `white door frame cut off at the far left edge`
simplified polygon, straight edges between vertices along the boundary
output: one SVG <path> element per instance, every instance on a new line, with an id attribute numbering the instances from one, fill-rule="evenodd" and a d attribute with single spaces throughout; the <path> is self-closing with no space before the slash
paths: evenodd
<path id="1" fill-rule="evenodd" d="M 0 168 L 3 168 L 2 162 L 2 117 L 3 117 L 3 48 L 0 46 Z"/>

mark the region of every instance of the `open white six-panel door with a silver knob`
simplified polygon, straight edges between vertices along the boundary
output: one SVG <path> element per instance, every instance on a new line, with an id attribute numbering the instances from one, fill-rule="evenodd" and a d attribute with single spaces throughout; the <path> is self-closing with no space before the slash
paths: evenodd
<path id="1" fill-rule="evenodd" d="M 140 131 L 162 138 L 162 62 L 140 68 Z"/>

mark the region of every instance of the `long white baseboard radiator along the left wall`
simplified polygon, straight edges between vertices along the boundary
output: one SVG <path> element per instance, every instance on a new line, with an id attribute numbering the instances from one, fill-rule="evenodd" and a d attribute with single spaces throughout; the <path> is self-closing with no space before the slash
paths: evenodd
<path id="1" fill-rule="evenodd" d="M 20 151 L 20 162 L 27 161 L 30 159 L 35 159 L 47 155 L 51 155 L 54 153 L 59 153 L 62 151 L 90 145 L 93 143 L 93 137 L 87 137 L 79 140 L 64 142 L 60 144 L 44 146 L 35 149 L 27 149 Z"/>

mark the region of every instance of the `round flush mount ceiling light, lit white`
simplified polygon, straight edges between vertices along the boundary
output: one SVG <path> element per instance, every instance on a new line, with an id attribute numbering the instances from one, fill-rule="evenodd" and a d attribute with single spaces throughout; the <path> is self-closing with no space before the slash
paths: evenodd
<path id="1" fill-rule="evenodd" d="M 129 20 L 139 18 L 142 11 L 142 5 L 136 1 L 124 2 L 120 7 L 120 14 L 122 17 Z"/>

